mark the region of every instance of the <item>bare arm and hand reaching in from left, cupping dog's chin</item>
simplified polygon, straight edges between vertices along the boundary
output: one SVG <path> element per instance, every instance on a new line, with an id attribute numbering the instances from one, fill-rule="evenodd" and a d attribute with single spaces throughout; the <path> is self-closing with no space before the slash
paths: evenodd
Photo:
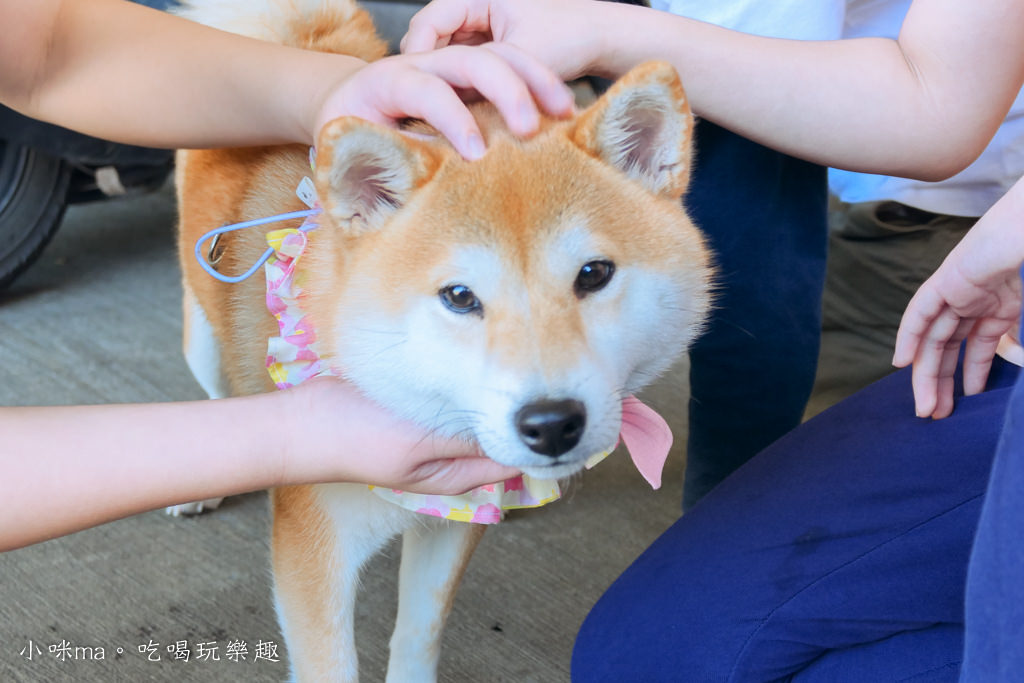
<path id="1" fill-rule="evenodd" d="M 271 486 L 461 494 L 518 474 L 335 379 L 212 401 L 0 408 L 0 551 Z"/>

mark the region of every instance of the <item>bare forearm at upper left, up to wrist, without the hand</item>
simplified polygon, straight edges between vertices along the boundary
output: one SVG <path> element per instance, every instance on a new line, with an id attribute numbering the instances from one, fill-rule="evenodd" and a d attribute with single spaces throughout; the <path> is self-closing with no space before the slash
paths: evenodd
<path id="1" fill-rule="evenodd" d="M 0 0 L 0 17 L 28 34 L 0 45 L 0 100 L 35 118 L 152 146 L 312 142 L 325 90 L 364 63 L 123 0 Z"/>

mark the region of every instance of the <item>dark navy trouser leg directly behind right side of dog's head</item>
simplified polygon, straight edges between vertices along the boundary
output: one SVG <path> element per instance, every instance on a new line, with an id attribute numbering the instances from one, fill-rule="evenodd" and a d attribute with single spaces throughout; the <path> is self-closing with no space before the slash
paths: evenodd
<path id="1" fill-rule="evenodd" d="M 700 121 L 685 204 L 719 267 L 690 351 L 689 509 L 800 424 L 821 337 L 825 170 Z"/>

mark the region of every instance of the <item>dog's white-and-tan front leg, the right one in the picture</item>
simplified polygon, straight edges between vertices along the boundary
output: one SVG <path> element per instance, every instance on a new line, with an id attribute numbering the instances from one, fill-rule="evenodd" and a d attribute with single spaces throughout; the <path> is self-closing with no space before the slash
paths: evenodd
<path id="1" fill-rule="evenodd" d="M 466 564 L 486 530 L 483 524 L 426 522 L 402 537 L 388 683 L 436 679 L 444 621 Z"/>

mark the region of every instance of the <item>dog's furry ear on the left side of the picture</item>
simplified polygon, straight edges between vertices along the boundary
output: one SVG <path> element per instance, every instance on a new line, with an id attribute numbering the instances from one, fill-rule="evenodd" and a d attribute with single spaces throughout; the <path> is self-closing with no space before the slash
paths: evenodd
<path id="1" fill-rule="evenodd" d="M 316 145 L 316 191 L 335 224 L 358 233 L 379 226 L 440 164 L 427 143 L 354 117 L 324 126 Z"/>

